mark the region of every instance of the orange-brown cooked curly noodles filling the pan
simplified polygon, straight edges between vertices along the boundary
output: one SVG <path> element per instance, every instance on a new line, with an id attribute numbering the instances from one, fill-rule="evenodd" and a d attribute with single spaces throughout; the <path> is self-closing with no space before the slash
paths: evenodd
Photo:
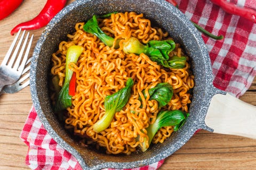
<path id="1" fill-rule="evenodd" d="M 58 76 L 59 86 L 62 87 L 68 47 L 84 47 L 77 63 L 69 64 L 69 69 L 76 73 L 76 94 L 72 97 L 72 106 L 63 114 L 65 128 L 81 137 L 86 144 L 93 143 L 97 148 L 106 148 L 107 154 L 129 155 L 138 149 L 143 140 L 148 140 L 146 128 L 155 122 L 159 112 L 157 101 L 149 100 L 148 90 L 158 83 L 170 83 L 173 88 L 172 99 L 161 109 L 188 112 L 194 75 L 190 70 L 189 57 L 183 69 L 166 69 L 143 53 L 135 55 L 122 51 L 122 41 L 130 37 L 138 38 L 143 44 L 150 40 L 171 39 L 163 29 L 151 26 L 150 20 L 145 19 L 143 14 L 116 13 L 111 14 L 110 18 L 98 19 L 98 22 L 107 35 L 115 38 L 114 44 L 117 39 L 121 39 L 119 48 L 108 47 L 91 33 L 85 32 L 84 22 L 76 23 L 76 31 L 68 34 L 68 40 L 62 41 L 58 51 L 52 54 L 51 74 Z M 186 56 L 178 43 L 170 53 L 170 56 L 173 55 Z M 92 125 L 105 114 L 105 97 L 124 88 L 128 78 L 134 81 L 129 101 L 115 114 L 106 130 L 94 132 Z M 143 96 L 143 90 L 147 97 Z M 172 132 L 172 126 L 161 128 L 153 143 L 164 142 Z"/>

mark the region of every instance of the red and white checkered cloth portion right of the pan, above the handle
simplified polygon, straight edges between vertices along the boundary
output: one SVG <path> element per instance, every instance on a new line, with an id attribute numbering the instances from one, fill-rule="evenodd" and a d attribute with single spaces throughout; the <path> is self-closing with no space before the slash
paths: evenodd
<path id="1" fill-rule="evenodd" d="M 180 10 L 222 40 L 202 35 L 212 62 L 213 84 L 236 97 L 244 94 L 256 75 L 256 24 L 223 11 L 210 0 L 179 0 Z M 255 0 L 230 0 L 256 10 Z"/>

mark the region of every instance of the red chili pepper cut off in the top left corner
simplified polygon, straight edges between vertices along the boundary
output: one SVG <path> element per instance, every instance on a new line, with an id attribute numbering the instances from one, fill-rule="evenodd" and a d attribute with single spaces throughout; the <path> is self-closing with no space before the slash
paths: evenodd
<path id="1" fill-rule="evenodd" d="M 2 0 L 0 1 L 0 20 L 9 16 L 16 8 L 20 6 L 23 0 Z"/>

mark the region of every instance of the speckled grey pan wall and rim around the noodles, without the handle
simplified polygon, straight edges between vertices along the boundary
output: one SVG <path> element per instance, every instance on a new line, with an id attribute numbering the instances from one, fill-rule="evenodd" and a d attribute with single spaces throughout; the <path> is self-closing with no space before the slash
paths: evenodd
<path id="1" fill-rule="evenodd" d="M 191 57 L 196 83 L 189 111 L 190 117 L 185 125 L 164 143 L 151 146 L 146 152 L 134 152 L 129 156 L 102 154 L 90 147 L 82 147 L 71 138 L 52 111 L 47 83 L 51 55 L 58 48 L 60 41 L 66 39 L 67 33 L 74 31 L 75 23 L 86 21 L 93 14 L 100 15 L 114 11 L 143 13 L 146 18 L 169 32 Z M 77 0 L 68 5 L 47 25 L 38 40 L 33 54 L 30 79 L 33 103 L 45 129 L 55 141 L 77 158 L 84 169 L 132 168 L 151 164 L 171 155 L 204 125 L 207 108 L 202 105 L 207 101 L 203 99 L 212 86 L 210 59 L 201 35 L 185 15 L 171 4 L 161 0 Z"/>

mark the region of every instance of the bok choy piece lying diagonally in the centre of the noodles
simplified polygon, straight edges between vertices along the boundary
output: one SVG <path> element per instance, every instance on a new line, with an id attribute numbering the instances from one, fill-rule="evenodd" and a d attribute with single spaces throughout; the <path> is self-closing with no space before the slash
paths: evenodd
<path id="1" fill-rule="evenodd" d="M 105 98 L 104 107 L 106 113 L 93 125 L 93 130 L 95 132 L 99 133 L 108 128 L 115 116 L 115 113 L 121 111 L 129 100 L 132 86 L 133 80 L 129 78 L 124 88 Z"/>

